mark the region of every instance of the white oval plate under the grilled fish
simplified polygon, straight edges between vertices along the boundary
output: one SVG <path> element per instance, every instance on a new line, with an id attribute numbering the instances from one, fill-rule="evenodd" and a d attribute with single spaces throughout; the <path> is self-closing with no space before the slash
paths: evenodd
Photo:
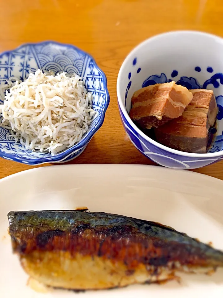
<path id="1" fill-rule="evenodd" d="M 143 165 L 59 165 L 31 169 L 0 181 L 1 297 L 23 298 L 188 298 L 223 297 L 223 269 L 212 276 L 182 275 L 164 285 L 136 285 L 107 291 L 33 291 L 12 254 L 7 213 L 12 210 L 72 210 L 158 221 L 212 241 L 223 250 L 223 182 L 189 171 Z"/>

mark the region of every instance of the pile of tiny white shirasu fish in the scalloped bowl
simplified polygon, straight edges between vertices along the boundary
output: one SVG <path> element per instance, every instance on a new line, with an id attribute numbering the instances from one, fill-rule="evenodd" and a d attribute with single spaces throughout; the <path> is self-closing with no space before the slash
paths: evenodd
<path id="1" fill-rule="evenodd" d="M 57 75 L 37 70 L 23 82 L 8 81 L 0 105 L 1 124 L 10 129 L 15 141 L 26 149 L 52 155 L 72 147 L 89 129 L 94 111 L 92 95 L 81 77 L 62 72 Z"/>

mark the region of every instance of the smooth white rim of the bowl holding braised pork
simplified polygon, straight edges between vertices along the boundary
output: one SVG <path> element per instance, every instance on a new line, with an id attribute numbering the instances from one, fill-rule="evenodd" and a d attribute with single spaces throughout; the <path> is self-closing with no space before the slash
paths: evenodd
<path id="1" fill-rule="evenodd" d="M 211 37 L 213 39 L 216 39 L 217 42 L 223 43 L 223 38 L 221 38 L 220 36 L 202 32 L 202 31 L 196 31 L 196 30 L 168 31 L 168 32 L 164 32 L 161 34 L 156 34 L 156 35 L 151 36 L 150 38 L 147 38 L 146 40 L 142 41 L 128 53 L 128 55 L 126 56 L 125 60 L 123 61 L 122 65 L 120 67 L 118 77 L 117 77 L 117 86 L 116 86 L 119 109 L 121 110 L 122 114 L 124 115 L 125 120 L 129 123 L 130 127 L 132 127 L 142 138 L 146 139 L 146 141 L 152 143 L 154 146 L 159 147 L 162 150 L 168 151 L 168 152 L 176 154 L 176 155 L 187 156 L 187 157 L 192 157 L 192 158 L 193 157 L 210 158 L 210 157 L 222 156 L 223 150 L 218 151 L 218 152 L 213 152 L 213 153 L 189 153 L 189 152 L 184 152 L 184 151 L 179 151 L 176 149 L 169 148 L 167 146 L 164 146 L 164 145 L 154 141 L 152 138 L 148 137 L 145 133 L 143 133 L 140 129 L 138 129 L 138 127 L 134 124 L 134 122 L 129 117 L 126 107 L 124 106 L 124 103 L 122 102 L 122 98 L 121 98 L 122 84 L 120 81 L 120 77 L 121 77 L 121 73 L 123 72 L 123 70 L 125 69 L 128 61 L 129 61 L 130 56 L 132 56 L 134 53 L 136 53 L 139 48 L 143 47 L 146 44 L 149 44 L 151 41 L 154 41 L 155 39 L 160 39 L 160 38 L 163 38 L 164 36 L 166 37 L 166 36 L 171 36 L 171 35 L 175 35 L 175 34 L 198 34 L 198 35 L 203 35 L 206 37 Z"/>

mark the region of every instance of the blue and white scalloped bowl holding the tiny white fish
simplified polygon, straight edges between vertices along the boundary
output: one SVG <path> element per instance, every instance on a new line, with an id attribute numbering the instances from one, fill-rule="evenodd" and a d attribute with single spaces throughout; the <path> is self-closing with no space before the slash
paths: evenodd
<path id="1" fill-rule="evenodd" d="M 11 76 L 24 80 L 37 69 L 62 70 L 83 77 L 85 87 L 93 95 L 93 109 L 96 111 L 90 129 L 80 142 L 54 156 L 39 151 L 25 150 L 15 143 L 7 129 L 0 128 L 0 156 L 24 164 L 38 165 L 46 162 L 66 162 L 80 155 L 94 133 L 101 127 L 109 105 L 107 79 L 94 59 L 82 50 L 68 44 L 52 41 L 24 44 L 15 50 L 0 54 L 0 84 L 5 84 Z M 2 101 L 0 100 L 2 103 Z"/>

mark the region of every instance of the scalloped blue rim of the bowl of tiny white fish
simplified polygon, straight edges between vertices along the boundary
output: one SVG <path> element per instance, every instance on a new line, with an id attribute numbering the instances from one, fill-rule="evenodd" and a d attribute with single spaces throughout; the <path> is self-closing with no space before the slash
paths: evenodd
<path id="1" fill-rule="evenodd" d="M 19 47 L 16 47 L 12 50 L 7 50 L 4 52 L 1 52 L 0 55 L 7 55 L 13 51 L 19 50 L 20 48 L 23 47 L 29 47 L 29 46 L 39 46 L 39 45 L 47 45 L 47 44 L 54 44 L 54 45 L 58 45 L 58 46 L 64 46 L 64 47 L 68 47 L 71 49 L 76 50 L 79 53 L 82 53 L 85 56 L 88 56 L 94 63 L 94 66 L 97 68 L 97 70 L 101 73 L 103 81 L 104 81 L 104 90 L 105 90 L 105 96 L 106 96 L 106 100 L 105 100 L 105 106 L 104 108 L 101 110 L 102 114 L 100 116 L 100 119 L 98 121 L 98 124 L 89 130 L 89 134 L 87 136 L 84 135 L 83 138 L 81 138 L 81 140 L 79 142 L 77 142 L 76 144 L 74 144 L 72 147 L 65 149 L 64 151 L 59 152 L 58 154 L 55 155 L 46 155 L 46 156 L 40 156 L 37 158 L 29 158 L 29 157 L 20 157 L 20 156 L 12 156 L 11 154 L 2 152 L 0 149 L 0 157 L 2 158 L 6 158 L 8 160 L 14 160 L 14 161 L 18 161 L 20 163 L 24 163 L 24 164 L 28 164 L 28 165 L 39 165 L 39 164 L 44 164 L 44 163 L 48 163 L 48 162 L 56 162 L 56 161 L 60 161 L 60 160 L 64 160 L 66 159 L 68 156 L 70 156 L 71 154 L 74 153 L 74 151 L 79 151 L 81 149 L 83 149 L 84 147 L 87 146 L 87 144 L 90 142 L 91 138 L 94 136 L 94 134 L 98 131 L 98 129 L 101 128 L 104 119 L 105 119 L 105 113 L 107 111 L 107 108 L 109 106 L 110 103 L 110 95 L 108 92 L 108 88 L 107 88 L 107 77 L 105 75 L 105 73 L 103 72 L 103 70 L 101 70 L 101 68 L 98 66 L 98 64 L 96 63 L 95 59 L 93 58 L 93 56 L 91 56 L 89 53 L 81 50 L 80 48 L 72 45 L 72 44 L 68 44 L 68 43 L 59 43 L 57 41 L 53 41 L 53 40 L 46 40 L 46 41 L 42 41 L 39 43 L 23 43 L 21 44 Z"/>

